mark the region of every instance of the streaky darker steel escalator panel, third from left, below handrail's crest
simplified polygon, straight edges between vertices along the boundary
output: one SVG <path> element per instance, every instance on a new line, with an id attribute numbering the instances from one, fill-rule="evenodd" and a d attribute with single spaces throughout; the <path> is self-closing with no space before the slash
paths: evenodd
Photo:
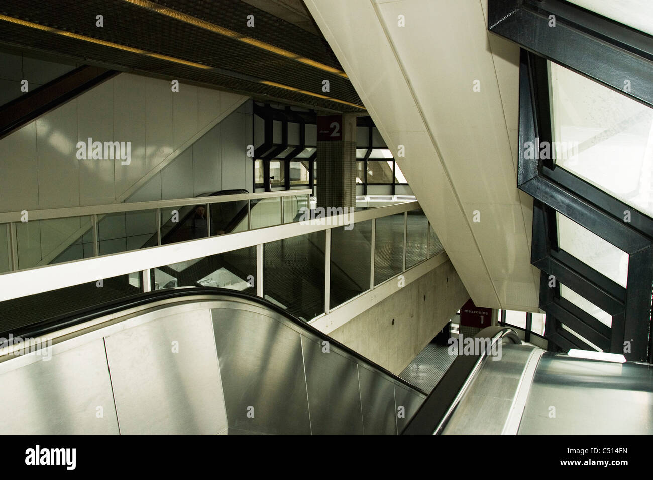
<path id="1" fill-rule="evenodd" d="M 310 435 L 300 333 L 259 311 L 211 314 L 229 434 Z"/>

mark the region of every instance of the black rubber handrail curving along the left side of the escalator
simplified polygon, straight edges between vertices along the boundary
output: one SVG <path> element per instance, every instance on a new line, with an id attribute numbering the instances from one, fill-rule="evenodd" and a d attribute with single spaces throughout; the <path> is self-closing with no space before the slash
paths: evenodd
<path id="1" fill-rule="evenodd" d="M 298 325 L 298 327 L 310 331 L 310 333 L 313 333 L 313 335 L 321 338 L 322 340 L 327 340 L 330 346 L 336 346 L 336 348 L 339 348 L 340 350 L 347 353 L 348 355 L 355 357 L 356 359 L 362 361 L 363 363 L 366 363 L 370 367 L 373 367 L 375 370 L 382 372 L 389 378 L 392 378 L 392 380 L 394 380 L 395 382 L 406 385 L 406 387 L 408 387 L 413 391 L 417 391 L 421 395 L 424 395 L 424 397 L 428 395 L 419 387 L 415 387 L 415 385 L 407 382 L 406 380 L 404 380 L 399 376 L 396 376 L 386 368 L 381 367 L 381 365 L 378 365 L 377 363 L 374 363 L 374 361 L 364 357 L 363 355 L 360 355 L 360 353 L 338 342 L 338 340 L 329 337 L 326 333 L 323 333 L 319 329 L 313 327 L 313 325 L 310 325 L 309 323 L 299 320 L 294 315 L 290 314 L 289 312 L 287 312 L 287 310 L 284 310 L 278 305 L 275 305 L 274 303 L 267 301 L 266 299 L 257 297 L 255 295 L 251 295 L 249 293 L 238 292 L 238 290 L 229 290 L 226 288 L 183 287 L 183 288 L 174 288 L 174 289 L 165 289 L 165 290 L 155 290 L 153 292 L 146 292 L 146 293 L 136 293 L 136 295 L 130 295 L 129 297 L 123 297 L 121 299 L 112 300 L 106 303 L 102 303 L 100 305 L 94 305 L 93 307 L 84 308 L 76 312 L 70 312 L 67 314 L 59 315 L 49 320 L 31 323 L 31 325 L 25 325 L 24 331 L 15 331 L 15 330 L 12 331 L 12 337 L 42 338 L 42 337 L 46 337 L 50 333 L 54 333 L 55 331 L 63 329 L 65 327 L 72 327 L 80 323 L 90 322 L 91 320 L 95 320 L 97 318 L 101 318 L 103 316 L 107 316 L 110 314 L 116 314 L 124 310 L 130 310 L 136 307 L 144 307 L 145 305 L 148 305 L 150 303 L 155 303 L 162 300 L 182 299 L 183 297 L 191 297 L 191 296 L 198 296 L 198 295 L 208 295 L 208 296 L 221 295 L 223 297 L 234 297 L 237 299 L 244 299 L 247 301 L 251 301 L 253 303 L 257 303 L 262 307 L 273 310 L 274 312 L 283 316 L 290 322 L 295 323 L 295 325 Z M 8 332 L 0 333 L 0 337 L 8 338 Z"/>

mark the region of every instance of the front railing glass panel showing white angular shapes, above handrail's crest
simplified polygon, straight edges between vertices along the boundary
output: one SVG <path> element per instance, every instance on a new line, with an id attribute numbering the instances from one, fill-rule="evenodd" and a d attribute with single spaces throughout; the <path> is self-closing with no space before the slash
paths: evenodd
<path id="1" fill-rule="evenodd" d="M 171 263 L 151 269 L 152 290 L 216 287 L 256 294 L 256 247 Z"/>

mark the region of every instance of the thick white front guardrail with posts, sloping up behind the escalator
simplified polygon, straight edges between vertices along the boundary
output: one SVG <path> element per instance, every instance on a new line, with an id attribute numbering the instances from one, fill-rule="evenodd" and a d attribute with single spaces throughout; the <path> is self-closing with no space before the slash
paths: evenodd
<path id="1" fill-rule="evenodd" d="M 274 192 L 278 196 L 279 192 Z M 285 194 L 296 195 L 297 190 L 292 190 L 291 193 Z M 257 196 L 261 194 L 255 194 Z M 259 198 L 269 197 L 269 194 L 259 196 Z M 197 203 L 197 198 L 190 199 L 192 203 Z M 223 199 L 221 199 L 223 200 Z M 179 204 L 178 200 L 166 201 L 168 205 L 176 206 Z M 188 204 L 188 203 L 187 203 Z M 72 262 L 57 263 L 54 265 L 45 265 L 43 267 L 35 267 L 32 269 L 24 269 L 0 275 L 0 301 L 16 297 L 24 297 L 26 295 L 35 295 L 37 293 L 51 292 L 60 288 L 67 288 L 70 286 L 85 284 L 89 282 L 97 282 L 102 278 L 118 277 L 119 275 L 129 275 L 140 272 L 142 283 L 141 288 L 144 292 L 152 290 L 150 284 L 150 271 L 161 265 L 170 265 L 172 263 L 186 262 L 197 258 L 204 258 L 215 254 L 230 252 L 246 247 L 257 248 L 257 295 L 263 296 L 263 245 L 278 241 L 281 239 L 288 239 L 307 233 L 325 231 L 325 299 L 329 298 L 328 292 L 328 273 L 330 269 L 330 230 L 357 222 L 364 222 L 372 220 L 372 238 L 370 242 L 370 288 L 368 292 L 377 288 L 380 284 L 375 285 L 374 282 L 374 258 L 375 258 L 375 232 L 376 232 L 376 219 L 380 217 L 388 217 L 390 215 L 403 214 L 404 215 L 404 239 L 402 239 L 404 248 L 402 249 L 402 272 L 406 271 L 406 222 L 409 211 L 421 209 L 417 202 L 399 203 L 397 205 L 389 205 L 386 207 L 378 207 L 375 209 L 367 209 L 364 211 L 355 211 L 342 215 L 332 215 L 325 218 L 315 218 L 308 221 L 296 221 L 287 224 L 278 224 L 275 226 L 268 226 L 256 230 L 246 230 L 243 232 L 226 233 L 223 235 L 205 237 L 201 239 L 194 239 L 183 241 L 180 243 L 170 243 L 168 245 L 161 245 L 157 247 L 140 248 L 139 250 L 131 250 L 127 252 L 120 252 L 116 254 L 109 254 L 104 256 L 95 256 L 93 258 L 86 258 L 83 260 L 74 260 Z M 426 228 L 430 232 L 430 224 L 426 223 Z M 423 232 L 426 237 L 430 239 L 430 234 Z M 441 250 L 440 250 L 441 251 Z M 430 258 L 439 254 L 438 252 L 430 252 L 430 246 L 426 246 L 426 254 L 422 259 L 423 263 Z M 411 265 L 412 267 L 418 264 Z M 396 277 L 396 276 L 394 276 Z M 394 278 L 391 277 L 391 278 Z M 390 281 L 390 278 L 387 281 Z M 384 282 L 385 283 L 385 282 Z M 365 292 L 363 292 L 365 293 Z M 328 314 L 332 310 L 328 305 L 328 300 L 325 301 L 324 313 Z"/>

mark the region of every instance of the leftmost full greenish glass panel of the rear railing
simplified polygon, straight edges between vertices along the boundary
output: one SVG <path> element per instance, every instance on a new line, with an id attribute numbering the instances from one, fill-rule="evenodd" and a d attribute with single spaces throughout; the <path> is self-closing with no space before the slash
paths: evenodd
<path id="1" fill-rule="evenodd" d="M 88 216 L 16 222 L 18 268 L 92 257 L 92 232 Z"/>

